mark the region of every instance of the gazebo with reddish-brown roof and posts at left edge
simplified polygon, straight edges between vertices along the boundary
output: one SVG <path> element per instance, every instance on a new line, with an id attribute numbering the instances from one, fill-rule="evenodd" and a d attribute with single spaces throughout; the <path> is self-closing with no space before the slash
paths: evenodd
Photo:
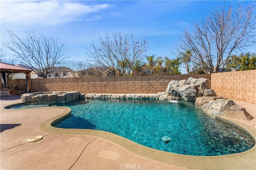
<path id="1" fill-rule="evenodd" d="M 28 83 L 27 92 L 31 92 L 31 72 L 32 70 L 28 70 L 26 68 L 16 67 L 10 64 L 0 63 L 0 72 L 1 72 L 1 80 L 3 84 L 3 89 L 8 88 L 7 84 L 7 76 L 11 73 L 22 72 L 26 75 L 26 81 Z"/>

